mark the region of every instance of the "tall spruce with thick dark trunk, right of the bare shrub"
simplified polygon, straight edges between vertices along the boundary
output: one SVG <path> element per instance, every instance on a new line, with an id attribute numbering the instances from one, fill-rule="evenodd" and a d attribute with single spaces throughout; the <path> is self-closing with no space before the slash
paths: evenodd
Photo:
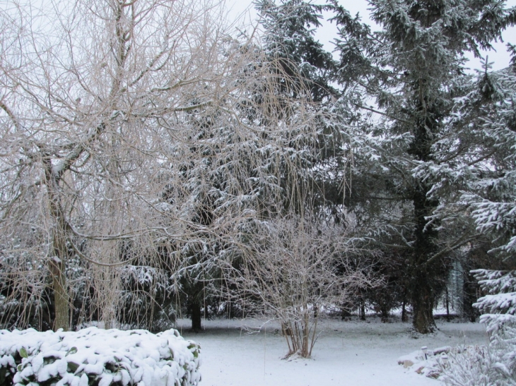
<path id="1" fill-rule="evenodd" d="M 392 226 L 377 217 L 376 225 L 396 234 L 398 246 L 409 248 L 409 298 L 414 327 L 421 333 L 435 328 L 433 307 L 447 272 L 445 258 L 467 242 L 443 229 L 435 217 L 444 199 L 435 194 L 435 165 L 444 162 L 435 144 L 450 135 L 447 122 L 459 96 L 457 84 L 465 77 L 464 53 L 479 55 L 514 21 L 514 11 L 504 5 L 372 0 L 371 16 L 382 28 L 373 33 L 334 3 L 341 83 L 365 94 L 356 99 L 358 109 L 378 113 L 373 125 L 364 125 L 359 133 L 367 151 L 358 149 L 356 157 L 380 163 L 376 178 L 383 181 L 382 199 L 397 200 L 399 211 L 409 211 L 402 224 Z M 366 105 L 373 98 L 375 106 Z M 374 200 L 377 193 L 366 195 Z M 452 239 L 444 240 L 444 235 Z"/>

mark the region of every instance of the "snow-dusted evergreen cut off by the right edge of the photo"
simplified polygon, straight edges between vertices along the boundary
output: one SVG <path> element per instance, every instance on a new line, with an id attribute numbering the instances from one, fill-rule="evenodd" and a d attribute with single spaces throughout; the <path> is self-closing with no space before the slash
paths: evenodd
<path id="1" fill-rule="evenodd" d="M 505 268 L 473 271 L 486 293 L 476 307 L 488 330 L 516 322 L 516 52 L 510 44 L 509 49 L 508 68 L 492 72 L 484 61 L 452 120 L 460 145 L 451 153 L 460 155 L 462 166 L 455 174 L 466 176 L 461 203 L 476 230 L 491 242 L 488 253 Z"/>

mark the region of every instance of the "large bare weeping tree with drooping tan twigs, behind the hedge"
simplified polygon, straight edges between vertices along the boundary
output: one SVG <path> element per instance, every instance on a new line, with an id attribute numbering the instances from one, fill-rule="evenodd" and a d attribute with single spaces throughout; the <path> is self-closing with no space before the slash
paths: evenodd
<path id="1" fill-rule="evenodd" d="M 240 224 L 281 210 L 310 109 L 278 98 L 277 64 L 217 4 L 13 3 L 0 20 L 4 323 L 112 325 L 123 275 L 152 301 L 184 249 L 239 246 Z"/>

